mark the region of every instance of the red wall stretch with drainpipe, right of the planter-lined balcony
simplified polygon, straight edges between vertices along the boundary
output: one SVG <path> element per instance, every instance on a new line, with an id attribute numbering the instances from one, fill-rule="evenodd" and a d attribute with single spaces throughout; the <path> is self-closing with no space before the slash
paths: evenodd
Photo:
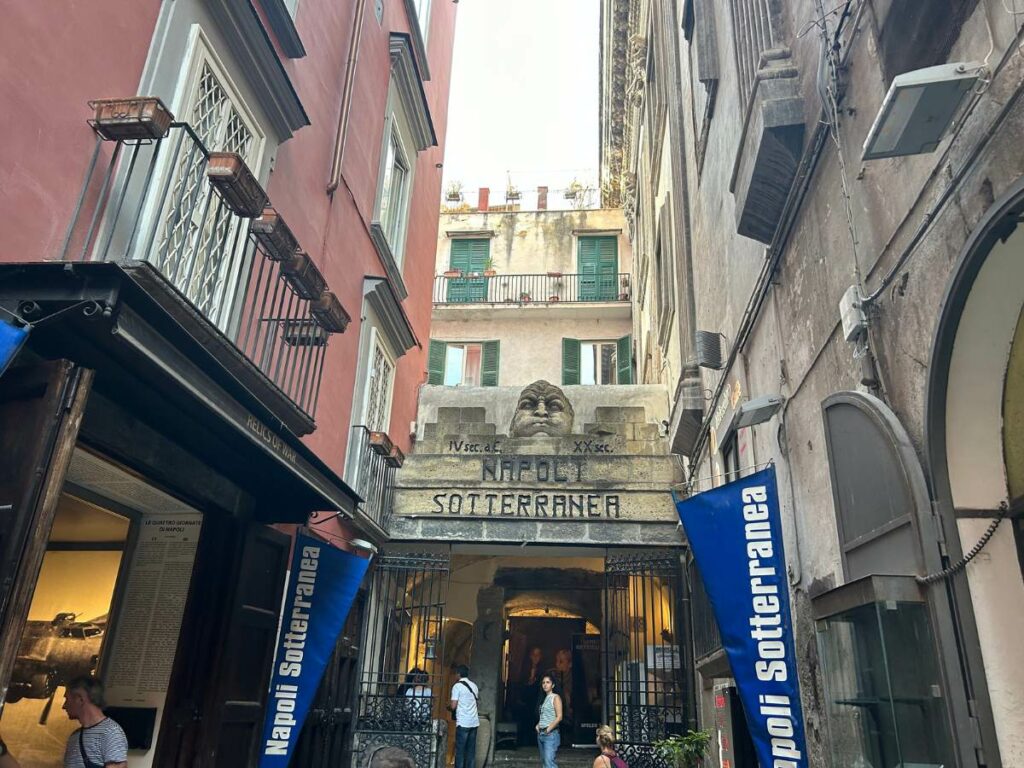
<path id="1" fill-rule="evenodd" d="M 403 302 L 421 346 L 398 360 L 394 382 L 391 437 L 410 447 L 409 424 L 416 419 L 419 386 L 426 377 L 426 341 L 430 335 L 430 294 L 440 210 L 441 170 L 447 122 L 449 85 L 455 36 L 456 4 L 434 0 L 428 35 L 431 79 L 424 86 L 437 146 L 420 153 L 410 210 L 403 278 L 409 298 Z M 370 240 L 370 222 L 377 195 L 384 113 L 390 79 L 390 40 L 408 32 L 404 4 L 385 3 L 382 24 L 368 0 L 359 57 L 353 83 L 348 138 L 341 183 L 326 191 L 344 91 L 344 74 L 354 18 L 354 3 L 299 3 L 296 26 L 305 58 L 286 68 L 309 115 L 303 128 L 282 145 L 267 191 L 303 248 L 316 260 L 328 284 L 353 322 L 330 343 L 325 365 L 316 431 L 309 444 L 341 474 L 349 429 L 353 387 L 358 366 L 359 310 L 365 275 L 384 275 L 384 265 Z M 339 42 L 340 41 L 340 42 Z"/>

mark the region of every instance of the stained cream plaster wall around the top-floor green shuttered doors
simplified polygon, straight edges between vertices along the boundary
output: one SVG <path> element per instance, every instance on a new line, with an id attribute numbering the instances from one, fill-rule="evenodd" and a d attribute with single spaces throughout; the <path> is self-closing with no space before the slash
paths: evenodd
<path id="1" fill-rule="evenodd" d="M 621 209 L 445 213 L 437 230 L 434 271 L 447 269 L 453 234 L 493 231 L 490 258 L 498 274 L 575 272 L 577 233 L 617 233 L 618 271 L 629 272 L 632 251 L 625 229 Z"/>

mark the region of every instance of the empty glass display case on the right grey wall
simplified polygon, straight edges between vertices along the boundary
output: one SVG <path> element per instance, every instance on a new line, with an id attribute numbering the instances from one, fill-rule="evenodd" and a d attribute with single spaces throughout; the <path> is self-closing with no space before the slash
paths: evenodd
<path id="1" fill-rule="evenodd" d="M 928 605 L 909 577 L 868 577 L 815 598 L 831 763 L 953 765 Z"/>

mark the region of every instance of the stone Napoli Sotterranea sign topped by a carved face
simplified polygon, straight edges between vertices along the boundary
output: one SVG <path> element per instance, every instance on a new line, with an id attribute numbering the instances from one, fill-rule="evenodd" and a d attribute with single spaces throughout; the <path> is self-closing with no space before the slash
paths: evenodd
<path id="1" fill-rule="evenodd" d="M 600 543 L 622 541 L 599 529 L 617 523 L 637 543 L 678 541 L 665 492 L 679 469 L 647 408 L 586 396 L 574 406 L 546 381 L 498 389 L 486 408 L 441 406 L 428 417 L 398 475 L 393 536 Z"/>

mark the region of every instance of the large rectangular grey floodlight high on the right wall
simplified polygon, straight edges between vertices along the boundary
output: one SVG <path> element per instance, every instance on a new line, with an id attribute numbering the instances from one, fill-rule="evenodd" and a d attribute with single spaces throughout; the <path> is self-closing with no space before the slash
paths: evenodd
<path id="1" fill-rule="evenodd" d="M 961 61 L 898 75 L 867 133 L 862 159 L 934 152 L 983 72 L 980 63 Z"/>

